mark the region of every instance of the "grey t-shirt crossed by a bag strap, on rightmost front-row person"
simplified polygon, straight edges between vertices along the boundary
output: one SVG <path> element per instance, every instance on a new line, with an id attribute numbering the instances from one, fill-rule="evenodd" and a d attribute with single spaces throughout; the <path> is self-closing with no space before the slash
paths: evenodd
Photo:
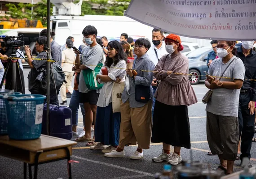
<path id="1" fill-rule="evenodd" d="M 234 59 L 235 58 L 235 59 Z M 231 62 L 229 68 L 226 69 L 223 77 L 231 77 L 234 79 L 244 79 L 245 67 L 243 61 L 233 56 L 226 64 L 222 62 L 222 58 L 212 61 L 209 67 L 209 75 L 221 77 L 226 66 Z M 234 81 L 234 79 L 221 78 L 220 81 Z M 206 111 L 215 115 L 238 117 L 239 90 L 230 90 L 226 88 L 217 88 L 212 91 L 212 98 L 207 103 Z"/>

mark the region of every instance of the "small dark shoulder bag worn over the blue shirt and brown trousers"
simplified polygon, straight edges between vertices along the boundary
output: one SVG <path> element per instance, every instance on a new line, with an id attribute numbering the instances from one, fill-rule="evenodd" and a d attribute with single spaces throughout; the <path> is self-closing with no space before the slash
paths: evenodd
<path id="1" fill-rule="evenodd" d="M 149 102 L 150 86 L 135 85 L 135 100 L 137 102 Z"/>

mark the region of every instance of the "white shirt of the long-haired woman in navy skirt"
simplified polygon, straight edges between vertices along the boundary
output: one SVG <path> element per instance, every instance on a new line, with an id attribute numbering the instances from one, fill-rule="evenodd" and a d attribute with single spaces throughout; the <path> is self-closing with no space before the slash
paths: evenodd
<path id="1" fill-rule="evenodd" d="M 112 88 L 117 77 L 122 79 L 121 81 L 125 81 L 124 76 L 126 75 L 126 72 L 125 72 L 126 62 L 124 60 L 120 60 L 115 66 L 113 63 L 111 64 L 110 68 L 108 67 L 106 68 L 108 70 L 108 77 L 110 77 L 113 81 L 101 82 L 100 79 L 98 80 L 99 82 L 104 84 L 102 86 L 102 90 L 98 98 L 98 102 L 97 102 L 98 107 L 106 107 L 109 105 L 110 102 L 112 102 Z M 124 69 L 118 69 L 118 68 L 124 68 Z M 102 70 L 100 71 L 99 74 L 102 75 Z"/>

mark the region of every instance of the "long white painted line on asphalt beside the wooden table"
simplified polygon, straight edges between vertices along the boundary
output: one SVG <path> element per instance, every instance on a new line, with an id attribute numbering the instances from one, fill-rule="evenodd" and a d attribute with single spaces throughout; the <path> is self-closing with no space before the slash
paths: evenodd
<path id="1" fill-rule="evenodd" d="M 145 171 L 141 171 L 141 170 L 134 170 L 134 169 L 131 169 L 131 168 L 126 168 L 124 166 L 117 166 L 117 165 L 113 165 L 113 164 L 106 163 L 106 162 L 100 162 L 100 161 L 91 160 L 91 159 L 88 159 L 88 158 L 78 157 L 78 156 L 75 156 L 75 155 L 72 155 L 71 157 L 72 158 L 77 158 L 77 159 L 80 159 L 80 160 L 84 160 L 84 161 L 87 161 L 87 162 L 93 162 L 93 163 L 97 163 L 97 164 L 101 164 L 101 165 L 105 165 L 105 166 L 110 166 L 110 167 L 121 169 L 121 170 L 131 171 L 131 172 L 138 173 L 138 174 L 141 174 L 141 175 L 147 175 L 147 176 L 154 177 L 154 174 L 148 173 L 148 172 L 145 172 Z"/>

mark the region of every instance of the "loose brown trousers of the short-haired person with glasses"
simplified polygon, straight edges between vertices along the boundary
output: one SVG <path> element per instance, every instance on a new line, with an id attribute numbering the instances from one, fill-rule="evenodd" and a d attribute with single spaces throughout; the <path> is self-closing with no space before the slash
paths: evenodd
<path id="1" fill-rule="evenodd" d="M 129 100 L 121 102 L 121 124 L 119 146 L 139 145 L 142 149 L 150 148 L 152 133 L 152 101 L 143 107 L 131 108 Z"/>

